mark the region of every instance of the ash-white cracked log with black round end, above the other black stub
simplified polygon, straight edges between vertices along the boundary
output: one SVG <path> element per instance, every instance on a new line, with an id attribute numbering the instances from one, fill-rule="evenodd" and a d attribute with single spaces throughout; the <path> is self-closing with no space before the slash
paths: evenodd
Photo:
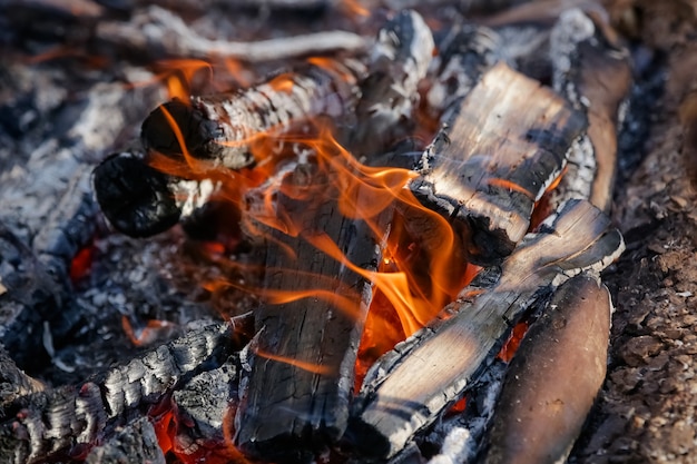
<path id="1" fill-rule="evenodd" d="M 181 162 L 186 149 L 208 167 L 239 169 L 256 161 L 252 147 L 261 138 L 297 130 L 308 118 L 350 115 L 364 72 L 365 67 L 351 59 L 326 66 L 307 63 L 244 91 L 192 97 L 188 102 L 175 99 L 143 122 L 143 145 Z M 180 146 L 173 124 L 186 147 Z M 200 168 L 193 166 L 193 170 Z"/>

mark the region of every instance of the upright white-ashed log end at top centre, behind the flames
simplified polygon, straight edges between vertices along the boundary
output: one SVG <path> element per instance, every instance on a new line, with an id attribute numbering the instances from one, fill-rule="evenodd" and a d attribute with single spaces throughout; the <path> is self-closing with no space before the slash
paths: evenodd
<path id="1" fill-rule="evenodd" d="M 382 154 L 412 134 L 419 83 L 426 75 L 434 47 L 431 30 L 412 10 L 396 13 L 380 30 L 355 109 L 356 129 L 350 142 L 354 156 Z"/>

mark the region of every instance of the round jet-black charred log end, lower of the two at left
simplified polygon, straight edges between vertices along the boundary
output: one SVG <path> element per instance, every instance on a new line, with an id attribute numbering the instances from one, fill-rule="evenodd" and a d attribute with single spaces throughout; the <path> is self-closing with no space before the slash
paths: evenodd
<path id="1" fill-rule="evenodd" d="M 92 184 L 101 211 L 115 229 L 149 237 L 167 230 L 181 216 L 171 180 L 140 157 L 119 152 L 95 168 Z"/>

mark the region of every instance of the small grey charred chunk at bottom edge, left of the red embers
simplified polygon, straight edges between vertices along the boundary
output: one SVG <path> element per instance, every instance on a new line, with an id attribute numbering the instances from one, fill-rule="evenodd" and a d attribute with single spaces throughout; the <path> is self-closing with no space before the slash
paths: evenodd
<path id="1" fill-rule="evenodd" d="M 117 427 L 114 436 L 95 446 L 85 460 L 85 464 L 122 463 L 166 463 L 155 427 L 148 417 Z"/>

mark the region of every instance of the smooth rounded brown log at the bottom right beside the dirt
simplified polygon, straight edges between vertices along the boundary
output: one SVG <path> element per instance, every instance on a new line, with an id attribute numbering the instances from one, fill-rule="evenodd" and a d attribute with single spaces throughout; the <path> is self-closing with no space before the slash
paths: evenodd
<path id="1" fill-rule="evenodd" d="M 605 379 L 611 310 L 597 278 L 557 289 L 511 362 L 482 463 L 566 461 Z"/>

